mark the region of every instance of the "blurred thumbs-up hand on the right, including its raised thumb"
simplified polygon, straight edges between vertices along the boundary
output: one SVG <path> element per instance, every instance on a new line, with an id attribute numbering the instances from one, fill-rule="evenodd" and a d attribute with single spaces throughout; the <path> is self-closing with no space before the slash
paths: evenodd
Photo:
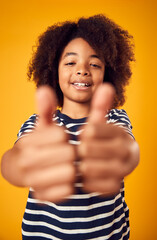
<path id="1" fill-rule="evenodd" d="M 105 123 L 104 116 L 111 108 L 113 98 L 111 85 L 104 84 L 97 89 L 88 125 L 78 146 L 84 189 L 104 196 L 119 192 L 122 179 L 139 161 L 138 145 L 132 137 L 124 129 Z"/>

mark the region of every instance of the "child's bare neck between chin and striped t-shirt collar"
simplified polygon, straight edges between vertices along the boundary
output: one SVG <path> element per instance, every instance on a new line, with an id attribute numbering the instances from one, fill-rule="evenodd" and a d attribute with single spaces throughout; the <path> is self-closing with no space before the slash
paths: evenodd
<path id="1" fill-rule="evenodd" d="M 90 110 L 89 103 L 70 102 L 70 104 L 63 103 L 61 112 L 73 119 L 79 119 L 88 117 L 89 110 Z"/>

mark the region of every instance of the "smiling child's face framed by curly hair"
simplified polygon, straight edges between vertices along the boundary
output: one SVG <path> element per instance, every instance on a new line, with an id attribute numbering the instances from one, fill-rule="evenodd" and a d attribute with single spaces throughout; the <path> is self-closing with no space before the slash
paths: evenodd
<path id="1" fill-rule="evenodd" d="M 58 67 L 63 104 L 68 101 L 90 103 L 93 93 L 103 82 L 105 64 L 82 38 L 73 39 L 61 55 Z"/>

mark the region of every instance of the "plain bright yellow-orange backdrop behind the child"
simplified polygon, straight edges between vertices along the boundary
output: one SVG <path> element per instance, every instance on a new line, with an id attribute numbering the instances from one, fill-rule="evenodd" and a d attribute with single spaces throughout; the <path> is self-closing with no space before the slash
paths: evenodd
<path id="1" fill-rule="evenodd" d="M 26 80 L 37 36 L 58 21 L 104 13 L 134 36 L 136 63 L 126 109 L 141 149 L 141 162 L 126 178 L 131 240 L 155 240 L 157 8 L 155 0 L 27 0 L 0 3 L 0 156 L 35 111 L 35 86 Z M 20 240 L 27 189 L 0 176 L 0 240 Z"/>

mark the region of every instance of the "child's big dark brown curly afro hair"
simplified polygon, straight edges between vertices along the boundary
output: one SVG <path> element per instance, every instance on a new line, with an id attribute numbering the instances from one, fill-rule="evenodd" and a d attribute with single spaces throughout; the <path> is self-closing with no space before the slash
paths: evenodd
<path id="1" fill-rule="evenodd" d="M 74 38 L 81 37 L 105 62 L 104 82 L 116 90 L 114 106 L 125 102 L 125 86 L 132 75 L 130 63 L 134 61 L 133 37 L 104 15 L 80 18 L 78 21 L 57 23 L 38 38 L 36 51 L 28 65 L 28 78 L 36 86 L 51 86 L 63 105 L 63 94 L 58 83 L 58 63 L 65 46 Z"/>

